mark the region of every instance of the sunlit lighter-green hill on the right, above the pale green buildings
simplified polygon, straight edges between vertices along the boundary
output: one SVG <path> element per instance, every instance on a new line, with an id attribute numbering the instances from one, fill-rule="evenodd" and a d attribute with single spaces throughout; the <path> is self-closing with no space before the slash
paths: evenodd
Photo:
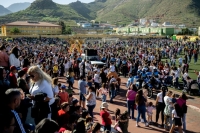
<path id="1" fill-rule="evenodd" d="M 146 17 L 158 22 L 200 24 L 199 0 L 107 0 L 105 4 L 97 20 L 126 23 Z"/>

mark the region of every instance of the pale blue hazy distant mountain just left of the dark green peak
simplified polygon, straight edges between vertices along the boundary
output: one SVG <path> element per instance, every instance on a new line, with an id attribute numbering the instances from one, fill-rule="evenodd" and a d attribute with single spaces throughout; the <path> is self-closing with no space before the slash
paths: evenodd
<path id="1" fill-rule="evenodd" d="M 14 13 L 14 12 L 18 12 L 21 10 L 25 10 L 30 5 L 31 5 L 31 3 L 29 3 L 29 2 L 14 3 L 14 4 L 10 5 L 9 7 L 7 7 L 7 9 Z"/>

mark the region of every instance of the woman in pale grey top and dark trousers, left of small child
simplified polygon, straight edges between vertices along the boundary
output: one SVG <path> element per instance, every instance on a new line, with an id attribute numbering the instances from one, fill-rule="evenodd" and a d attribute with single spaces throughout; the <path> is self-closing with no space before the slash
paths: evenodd
<path id="1" fill-rule="evenodd" d="M 90 116 L 93 118 L 93 110 L 96 106 L 96 95 L 95 95 L 95 88 L 94 87 L 89 87 L 88 88 L 88 95 L 85 94 L 86 98 L 86 106 L 88 108 L 88 112 Z"/>

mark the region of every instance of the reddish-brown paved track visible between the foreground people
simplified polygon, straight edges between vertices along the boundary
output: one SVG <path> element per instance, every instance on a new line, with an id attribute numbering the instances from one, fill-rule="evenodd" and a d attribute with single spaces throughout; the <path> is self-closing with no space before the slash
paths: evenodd
<path id="1" fill-rule="evenodd" d="M 125 98 L 125 94 L 126 94 L 126 87 L 125 87 L 125 83 L 126 83 L 125 78 L 122 78 L 122 85 L 121 85 L 121 92 L 120 94 L 114 99 L 114 103 L 111 104 L 109 103 L 109 109 L 110 109 L 110 113 L 112 115 L 113 118 L 113 124 L 114 124 L 114 111 L 116 110 L 116 108 L 120 108 L 121 112 L 125 111 L 126 108 L 126 98 Z M 61 83 L 66 83 L 66 80 L 64 78 L 60 78 L 59 80 Z M 77 81 L 75 81 L 74 87 L 77 88 Z M 77 89 L 74 89 L 75 93 L 78 93 Z M 75 95 L 76 98 L 78 98 L 78 95 Z M 108 100 L 108 97 L 107 97 Z M 154 99 L 149 99 L 149 101 L 152 101 L 153 103 L 155 103 Z M 99 116 L 99 107 L 101 105 L 101 101 L 97 100 L 97 105 L 94 109 L 94 117 L 95 117 L 95 121 L 99 121 L 101 122 L 101 118 Z M 200 108 L 200 99 L 199 98 L 193 98 L 190 97 L 190 99 L 188 100 L 188 105 L 189 107 L 193 107 L 193 108 L 188 108 L 188 113 L 187 113 L 187 117 L 186 117 L 186 121 L 187 121 L 187 132 L 186 133 L 200 133 L 200 112 L 199 109 Z M 195 109 L 196 108 L 196 109 Z M 137 116 L 137 111 L 135 111 L 135 117 Z M 153 121 L 155 121 L 155 111 L 153 114 Z M 160 121 L 159 121 L 160 123 Z M 149 127 L 145 127 L 144 123 L 139 123 L 139 125 L 141 127 L 136 127 L 136 121 L 134 120 L 129 120 L 129 128 L 128 131 L 130 133 L 167 133 L 164 129 L 162 128 L 158 128 L 155 127 L 153 125 L 150 125 Z"/>

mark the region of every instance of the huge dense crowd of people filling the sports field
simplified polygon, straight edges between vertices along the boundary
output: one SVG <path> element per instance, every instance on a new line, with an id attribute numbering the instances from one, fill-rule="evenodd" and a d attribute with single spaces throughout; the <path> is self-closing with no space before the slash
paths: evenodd
<path id="1" fill-rule="evenodd" d="M 120 76 L 128 76 L 127 111 L 121 113 L 116 109 L 116 132 L 128 133 L 129 119 L 135 119 L 135 110 L 138 112 L 136 127 L 144 122 L 145 126 L 155 124 L 170 133 L 175 126 L 180 133 L 186 132 L 186 94 L 176 98 L 167 86 L 161 85 L 153 104 L 142 83 L 150 78 L 154 79 L 152 84 L 162 82 L 189 91 L 194 81 L 188 73 L 189 64 L 193 63 L 192 58 L 197 63 L 199 42 L 132 39 L 85 43 L 82 51 L 97 50 L 98 58 L 105 63 L 103 68 L 82 59 L 75 49 L 69 53 L 69 43 L 58 38 L 0 40 L 0 132 L 99 133 L 102 127 L 103 132 L 110 132 L 113 123 L 108 102 L 115 103 L 121 90 Z M 148 72 L 152 73 L 150 77 Z M 200 83 L 200 74 L 195 72 L 196 82 Z M 66 84 L 61 84 L 59 77 L 66 77 Z M 179 84 L 180 77 L 183 87 Z M 78 80 L 78 99 L 73 96 L 75 80 Z M 102 100 L 101 123 L 94 122 L 97 99 Z M 154 109 L 155 123 L 152 121 Z M 160 113 L 161 124 L 158 124 Z M 27 123 L 27 119 L 34 121 Z"/>

